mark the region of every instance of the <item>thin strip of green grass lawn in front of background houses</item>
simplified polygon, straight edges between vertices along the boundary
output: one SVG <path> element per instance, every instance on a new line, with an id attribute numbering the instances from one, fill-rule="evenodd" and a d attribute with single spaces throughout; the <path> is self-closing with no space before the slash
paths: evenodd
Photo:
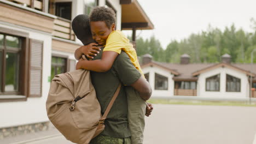
<path id="1" fill-rule="evenodd" d="M 152 104 L 173 104 L 173 105 L 225 105 L 225 106 L 255 106 L 256 103 L 249 104 L 242 101 L 201 101 L 201 100 L 168 100 L 168 99 L 149 99 Z"/>

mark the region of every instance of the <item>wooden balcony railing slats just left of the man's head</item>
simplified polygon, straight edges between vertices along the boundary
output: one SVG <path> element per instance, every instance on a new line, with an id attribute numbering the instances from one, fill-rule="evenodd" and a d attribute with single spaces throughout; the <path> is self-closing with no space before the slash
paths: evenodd
<path id="1" fill-rule="evenodd" d="M 74 32 L 72 31 L 71 21 L 58 17 L 54 20 L 54 37 L 75 40 Z"/>

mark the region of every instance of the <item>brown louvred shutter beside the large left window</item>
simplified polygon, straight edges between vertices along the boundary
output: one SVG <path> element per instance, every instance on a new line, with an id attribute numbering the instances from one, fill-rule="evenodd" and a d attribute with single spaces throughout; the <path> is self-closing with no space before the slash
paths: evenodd
<path id="1" fill-rule="evenodd" d="M 28 97 L 42 95 L 43 41 L 30 39 Z"/>

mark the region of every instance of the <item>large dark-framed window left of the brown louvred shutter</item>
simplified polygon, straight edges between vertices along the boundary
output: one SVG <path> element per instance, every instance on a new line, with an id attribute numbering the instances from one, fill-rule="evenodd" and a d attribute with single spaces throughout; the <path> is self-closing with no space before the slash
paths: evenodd
<path id="1" fill-rule="evenodd" d="M 0 93 L 19 94 L 22 61 L 22 39 L 0 34 Z"/>

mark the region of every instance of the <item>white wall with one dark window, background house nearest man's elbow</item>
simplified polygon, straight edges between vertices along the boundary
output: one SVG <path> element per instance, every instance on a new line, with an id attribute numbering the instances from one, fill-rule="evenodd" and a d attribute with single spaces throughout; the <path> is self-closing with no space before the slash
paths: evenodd
<path id="1" fill-rule="evenodd" d="M 159 67 L 147 67 L 142 69 L 144 74 L 149 73 L 149 83 L 153 89 L 152 97 L 171 97 L 174 94 L 174 81 L 173 75 L 170 71 L 164 70 Z M 155 73 L 168 77 L 168 90 L 155 90 Z"/>

